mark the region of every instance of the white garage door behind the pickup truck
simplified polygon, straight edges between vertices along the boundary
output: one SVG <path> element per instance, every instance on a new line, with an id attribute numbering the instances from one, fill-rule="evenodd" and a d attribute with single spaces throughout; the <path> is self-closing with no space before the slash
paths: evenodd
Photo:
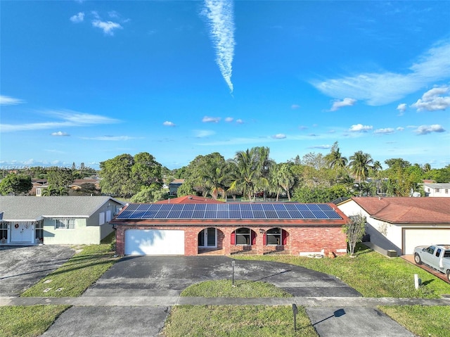
<path id="1" fill-rule="evenodd" d="M 416 246 L 450 244 L 450 228 L 404 228 L 403 253 L 413 254 Z"/>

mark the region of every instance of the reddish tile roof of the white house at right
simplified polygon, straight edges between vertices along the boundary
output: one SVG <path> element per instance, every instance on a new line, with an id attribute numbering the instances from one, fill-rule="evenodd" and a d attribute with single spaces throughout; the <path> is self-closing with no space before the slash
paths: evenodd
<path id="1" fill-rule="evenodd" d="M 392 223 L 450 224 L 450 198 L 352 198 L 371 217 Z"/>

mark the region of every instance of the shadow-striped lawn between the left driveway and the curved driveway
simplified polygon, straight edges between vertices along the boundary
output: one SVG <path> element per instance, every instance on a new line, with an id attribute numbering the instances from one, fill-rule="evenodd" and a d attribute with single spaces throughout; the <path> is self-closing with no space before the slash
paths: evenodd
<path id="1" fill-rule="evenodd" d="M 76 297 L 82 295 L 104 272 L 115 263 L 112 242 L 84 246 L 68 262 L 28 288 L 23 297 Z M 50 290 L 49 290 L 50 289 Z M 46 291 L 47 290 L 47 291 Z"/>

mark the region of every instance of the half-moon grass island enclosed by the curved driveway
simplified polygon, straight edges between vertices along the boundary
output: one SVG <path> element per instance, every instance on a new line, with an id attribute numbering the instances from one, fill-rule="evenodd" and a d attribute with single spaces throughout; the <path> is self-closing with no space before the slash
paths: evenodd
<path id="1" fill-rule="evenodd" d="M 261 281 L 236 280 L 234 287 L 231 280 L 205 281 L 193 284 L 181 292 L 181 296 L 191 297 L 226 297 L 226 298 L 269 298 L 292 297 L 281 288 Z"/>

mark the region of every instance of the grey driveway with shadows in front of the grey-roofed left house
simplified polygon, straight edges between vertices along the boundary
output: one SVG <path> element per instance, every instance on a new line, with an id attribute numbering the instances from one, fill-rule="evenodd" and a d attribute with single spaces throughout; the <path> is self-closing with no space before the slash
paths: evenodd
<path id="1" fill-rule="evenodd" d="M 17 296 L 75 254 L 69 246 L 0 247 L 0 296 Z"/>

